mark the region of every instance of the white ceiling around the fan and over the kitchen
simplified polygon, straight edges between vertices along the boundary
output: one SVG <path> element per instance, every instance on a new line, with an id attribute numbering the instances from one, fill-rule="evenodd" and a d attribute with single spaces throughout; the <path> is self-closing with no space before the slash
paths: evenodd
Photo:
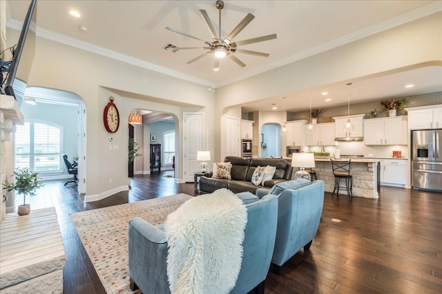
<path id="1" fill-rule="evenodd" d="M 106 48 L 113 56 L 140 61 L 142 66 L 209 87 L 227 85 L 247 76 L 265 72 L 302 57 L 316 54 L 349 41 L 363 38 L 407 21 L 442 10 L 442 1 L 224 1 L 222 36 L 228 34 L 247 13 L 255 19 L 233 41 L 276 33 L 278 39 L 244 45 L 241 48 L 267 52 L 268 58 L 235 53 L 246 67 L 222 59 L 220 71 L 214 72 L 213 56 L 186 64 L 206 50 L 164 50 L 172 43 L 178 47 L 202 46 L 204 43 L 166 30 L 166 26 L 211 41 L 198 10 L 204 9 L 218 32 L 218 10 L 215 1 L 38 1 L 39 35 L 72 41 L 80 48 L 92 45 L 97 51 Z M 28 1 L 8 1 L 8 19 L 21 21 Z M 80 18 L 71 17 L 77 10 Z M 10 25 L 11 21 L 8 23 Z M 80 30 L 83 26 L 87 32 Z M 110 51 L 109 51 L 110 50 Z M 441 48 L 442 50 L 442 48 Z M 415 87 L 405 89 L 405 84 Z M 347 103 L 347 86 L 324 85 L 311 90 L 315 103 L 323 104 L 320 92 L 327 90 L 330 106 Z M 378 98 L 408 96 L 442 91 L 441 67 L 410 70 L 370 78 L 354 83 L 352 102 Z M 306 96 L 307 95 L 307 96 Z M 271 103 L 293 109 L 308 109 L 310 93 L 287 93 L 287 98 L 273 97 L 271 102 L 258 101 L 244 105 L 247 111 L 269 110 Z M 302 98 L 302 99 L 296 99 Z M 305 98 L 307 97 L 307 98 Z M 316 102 L 318 101 L 318 102 Z"/>

